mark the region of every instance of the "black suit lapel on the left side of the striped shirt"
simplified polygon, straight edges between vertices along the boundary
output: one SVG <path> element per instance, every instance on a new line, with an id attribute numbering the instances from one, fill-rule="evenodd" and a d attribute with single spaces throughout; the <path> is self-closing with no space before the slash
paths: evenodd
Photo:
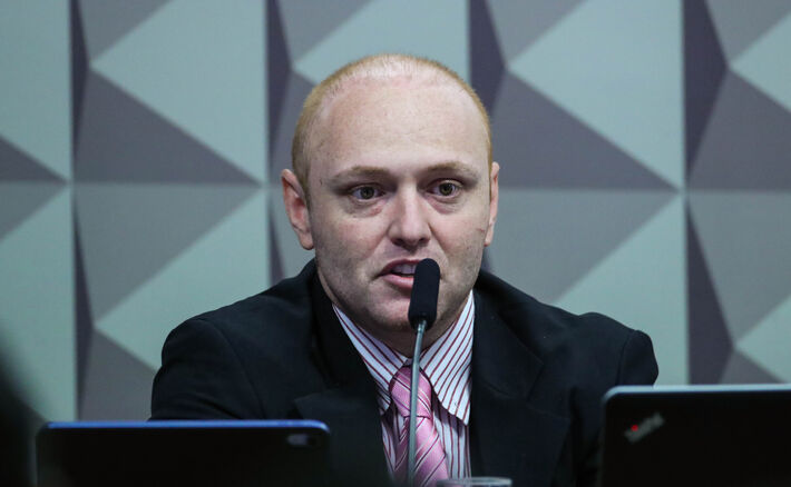
<path id="1" fill-rule="evenodd" d="M 330 427 L 330 461 L 339 485 L 389 485 L 377 389 L 365 364 L 338 322 L 332 305 L 313 282 L 316 344 L 314 360 L 328 389 L 295 399 L 304 418 Z"/>

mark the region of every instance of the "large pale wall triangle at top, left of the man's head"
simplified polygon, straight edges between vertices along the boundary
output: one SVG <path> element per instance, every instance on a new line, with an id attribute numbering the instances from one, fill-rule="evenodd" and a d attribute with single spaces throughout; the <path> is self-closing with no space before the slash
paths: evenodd
<path id="1" fill-rule="evenodd" d="M 91 63 L 255 180 L 266 175 L 261 2 L 176 0 Z"/>

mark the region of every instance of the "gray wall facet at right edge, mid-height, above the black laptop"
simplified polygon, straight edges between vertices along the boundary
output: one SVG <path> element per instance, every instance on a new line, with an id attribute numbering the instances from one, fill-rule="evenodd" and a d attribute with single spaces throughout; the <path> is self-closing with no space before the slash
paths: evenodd
<path id="1" fill-rule="evenodd" d="M 731 338 L 791 294 L 791 195 L 690 195 L 692 215 Z"/>

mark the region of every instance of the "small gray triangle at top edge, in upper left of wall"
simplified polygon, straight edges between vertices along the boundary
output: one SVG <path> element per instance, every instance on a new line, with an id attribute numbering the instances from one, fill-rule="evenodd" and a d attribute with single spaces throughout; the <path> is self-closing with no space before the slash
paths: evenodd
<path id="1" fill-rule="evenodd" d="M 90 59 L 96 59 L 167 0 L 80 0 Z"/>

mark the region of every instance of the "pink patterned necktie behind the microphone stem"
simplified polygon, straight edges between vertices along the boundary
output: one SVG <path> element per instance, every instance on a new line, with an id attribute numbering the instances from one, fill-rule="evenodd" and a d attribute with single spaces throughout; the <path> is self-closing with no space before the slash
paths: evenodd
<path id="1" fill-rule="evenodd" d="M 398 414 L 404 418 L 396 447 L 396 467 L 393 469 L 396 480 L 401 485 L 407 485 L 407 470 L 409 469 L 407 455 L 409 451 L 409 382 L 411 375 L 411 368 L 404 366 L 399 369 L 390 382 L 390 396 Z M 448 467 L 445 464 L 445 448 L 439 439 L 439 434 L 437 434 L 431 413 L 431 384 L 422 370 L 420 370 L 418 382 L 414 486 L 433 487 L 437 480 L 448 478 Z"/>

